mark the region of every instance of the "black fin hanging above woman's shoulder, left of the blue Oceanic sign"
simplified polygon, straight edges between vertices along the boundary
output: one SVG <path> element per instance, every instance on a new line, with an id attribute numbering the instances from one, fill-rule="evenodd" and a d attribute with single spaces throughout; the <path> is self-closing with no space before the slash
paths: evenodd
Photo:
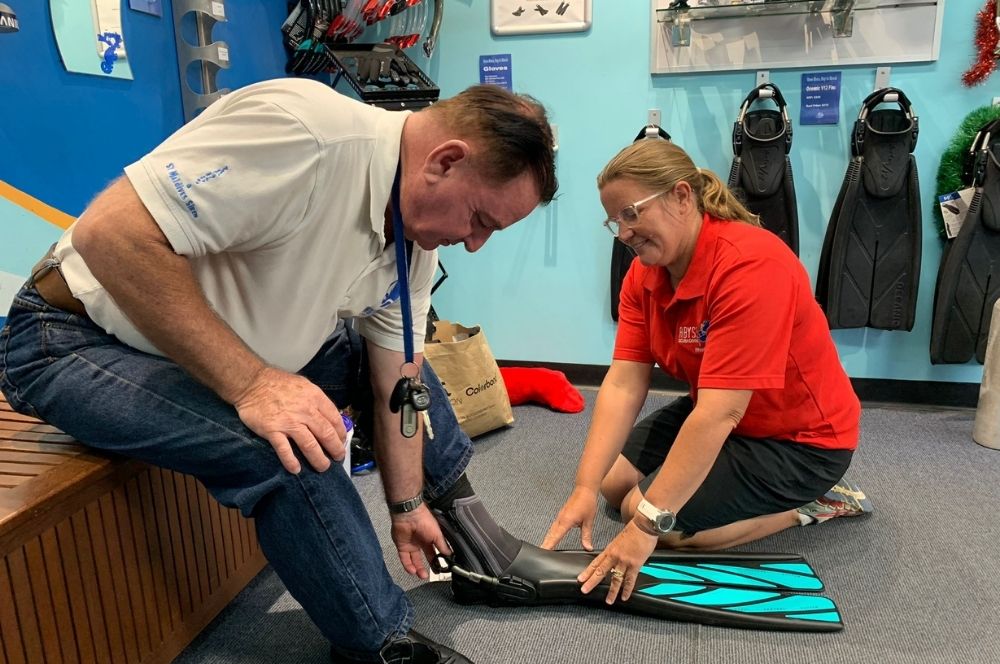
<path id="1" fill-rule="evenodd" d="M 778 109 L 749 110 L 754 102 L 771 99 Z M 799 214 L 788 153 L 792 123 L 788 105 L 773 83 L 754 88 L 740 106 L 733 125 L 733 165 L 729 188 L 740 197 L 761 225 L 799 253 Z"/>

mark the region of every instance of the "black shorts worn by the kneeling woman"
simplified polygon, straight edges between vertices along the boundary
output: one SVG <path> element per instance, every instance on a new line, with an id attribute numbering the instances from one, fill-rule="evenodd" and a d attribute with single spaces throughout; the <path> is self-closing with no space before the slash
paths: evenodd
<path id="1" fill-rule="evenodd" d="M 643 475 L 651 475 L 663 464 L 693 408 L 691 397 L 684 396 L 642 420 L 629 434 L 622 455 Z M 853 454 L 853 450 L 731 435 L 708 477 L 677 513 L 677 529 L 693 535 L 801 507 L 844 476 Z"/>

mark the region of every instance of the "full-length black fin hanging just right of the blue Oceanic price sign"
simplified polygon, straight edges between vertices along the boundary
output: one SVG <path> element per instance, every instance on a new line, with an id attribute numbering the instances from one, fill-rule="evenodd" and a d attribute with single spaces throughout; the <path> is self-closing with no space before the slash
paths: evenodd
<path id="1" fill-rule="evenodd" d="M 897 109 L 878 109 L 897 103 Z M 913 328 L 920 278 L 917 117 L 897 88 L 870 94 L 823 241 L 816 298 L 831 329 Z"/>

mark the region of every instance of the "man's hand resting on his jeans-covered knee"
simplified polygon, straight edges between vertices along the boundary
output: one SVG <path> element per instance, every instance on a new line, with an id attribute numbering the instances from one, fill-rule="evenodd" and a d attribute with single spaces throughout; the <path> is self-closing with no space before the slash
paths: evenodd
<path id="1" fill-rule="evenodd" d="M 330 467 L 330 459 L 344 459 L 347 431 L 340 411 L 302 376 L 264 367 L 233 405 L 243 423 L 271 443 L 290 473 L 302 470 L 292 443 L 319 472 Z"/>

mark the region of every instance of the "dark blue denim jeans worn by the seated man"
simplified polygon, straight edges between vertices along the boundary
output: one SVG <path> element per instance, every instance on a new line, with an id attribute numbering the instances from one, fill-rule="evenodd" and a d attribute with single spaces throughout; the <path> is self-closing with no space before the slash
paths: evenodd
<path id="1" fill-rule="evenodd" d="M 340 407 L 359 394 L 361 344 L 338 329 L 302 370 Z M 472 445 L 428 363 L 434 439 L 425 441 L 425 494 L 464 472 Z M 261 548 L 289 592 L 345 655 L 405 633 L 413 607 L 383 561 L 351 478 L 302 461 L 285 471 L 236 410 L 174 362 L 135 350 L 90 319 L 49 306 L 33 287 L 15 296 L 0 330 L 0 389 L 11 406 L 80 442 L 197 478 L 255 519 Z M 300 457 L 301 460 L 301 457 Z"/>

